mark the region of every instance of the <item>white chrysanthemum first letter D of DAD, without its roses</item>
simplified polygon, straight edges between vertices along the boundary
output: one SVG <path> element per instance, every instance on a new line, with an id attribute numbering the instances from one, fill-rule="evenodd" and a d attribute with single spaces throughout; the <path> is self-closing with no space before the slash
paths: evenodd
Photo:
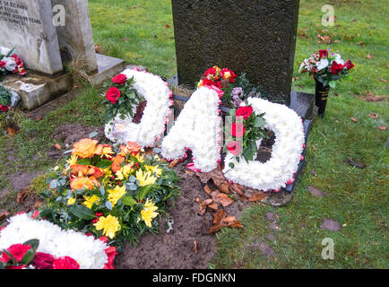
<path id="1" fill-rule="evenodd" d="M 118 114 L 105 126 L 105 134 L 112 142 L 134 142 L 143 147 L 153 147 L 165 132 L 171 115 L 173 100 L 170 99 L 173 93 L 159 75 L 137 69 L 126 69 L 122 74 L 128 79 L 134 77 L 134 88 L 147 100 L 147 106 L 140 124 L 135 124 L 131 117 L 121 119 Z"/>

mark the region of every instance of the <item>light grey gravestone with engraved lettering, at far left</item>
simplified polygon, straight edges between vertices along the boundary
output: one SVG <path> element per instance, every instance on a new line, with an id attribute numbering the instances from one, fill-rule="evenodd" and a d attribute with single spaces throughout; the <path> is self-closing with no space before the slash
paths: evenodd
<path id="1" fill-rule="evenodd" d="M 26 68 L 45 74 L 63 70 L 49 1 L 0 0 L 0 35 L 0 46 L 15 47 Z"/>

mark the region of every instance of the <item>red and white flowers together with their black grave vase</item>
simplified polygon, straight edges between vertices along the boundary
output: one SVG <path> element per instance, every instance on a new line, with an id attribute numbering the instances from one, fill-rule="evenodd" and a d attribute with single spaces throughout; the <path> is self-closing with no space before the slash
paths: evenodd
<path id="1" fill-rule="evenodd" d="M 324 117 L 325 106 L 328 100 L 330 88 L 335 88 L 336 81 L 346 78 L 354 64 L 348 60 L 346 63 L 338 53 L 329 54 L 330 49 L 320 50 L 304 60 L 298 73 L 312 74 L 316 81 L 316 106 L 319 115 Z"/>

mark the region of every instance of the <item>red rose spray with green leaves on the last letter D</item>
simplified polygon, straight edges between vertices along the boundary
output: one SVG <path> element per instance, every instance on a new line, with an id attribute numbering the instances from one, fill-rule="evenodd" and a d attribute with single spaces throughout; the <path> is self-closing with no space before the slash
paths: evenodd
<path id="1" fill-rule="evenodd" d="M 229 152 L 235 156 L 236 161 L 243 157 L 247 162 L 254 161 L 258 152 L 258 143 L 266 137 L 264 132 L 264 113 L 256 115 L 254 109 L 246 100 L 245 106 L 238 109 L 230 109 L 229 116 L 232 117 L 229 135 L 232 140 L 226 143 L 223 152 Z M 235 167 L 230 162 L 229 167 Z"/>

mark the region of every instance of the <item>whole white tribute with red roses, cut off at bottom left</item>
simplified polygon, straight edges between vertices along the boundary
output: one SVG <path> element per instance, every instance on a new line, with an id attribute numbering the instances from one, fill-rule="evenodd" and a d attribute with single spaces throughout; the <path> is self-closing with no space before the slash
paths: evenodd
<path id="1" fill-rule="evenodd" d="M 113 269 L 116 255 L 104 238 L 62 230 L 26 213 L 0 230 L 0 269 Z"/>

